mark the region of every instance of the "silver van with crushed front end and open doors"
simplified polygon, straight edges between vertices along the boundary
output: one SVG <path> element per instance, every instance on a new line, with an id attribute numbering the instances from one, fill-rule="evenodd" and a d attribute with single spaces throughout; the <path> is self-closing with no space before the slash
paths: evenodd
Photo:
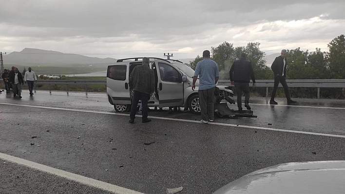
<path id="1" fill-rule="evenodd" d="M 107 94 L 111 105 L 118 112 L 129 111 L 131 107 L 131 95 L 129 90 L 129 76 L 137 65 L 142 65 L 143 57 L 119 59 L 114 65 L 108 66 L 107 70 Z M 156 107 L 188 107 L 192 113 L 199 114 L 199 80 L 192 90 L 194 70 L 189 64 L 178 60 L 150 57 L 150 68 L 155 75 L 154 94 L 148 102 L 148 106 Z M 226 86 L 219 88 L 215 103 L 222 99 L 234 103 L 230 96 L 232 90 Z"/>

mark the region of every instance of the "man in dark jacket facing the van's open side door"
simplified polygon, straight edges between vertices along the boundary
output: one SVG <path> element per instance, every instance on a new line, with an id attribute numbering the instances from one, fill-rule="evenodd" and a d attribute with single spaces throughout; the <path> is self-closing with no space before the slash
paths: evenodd
<path id="1" fill-rule="evenodd" d="M 143 58 L 143 64 L 136 66 L 129 78 L 130 90 L 133 89 L 133 100 L 131 106 L 130 123 L 134 123 L 136 106 L 138 106 L 139 100 L 142 104 L 142 123 L 148 123 L 151 119 L 148 119 L 148 107 L 147 102 L 150 100 L 154 92 L 154 73 L 149 67 L 150 59 Z"/>

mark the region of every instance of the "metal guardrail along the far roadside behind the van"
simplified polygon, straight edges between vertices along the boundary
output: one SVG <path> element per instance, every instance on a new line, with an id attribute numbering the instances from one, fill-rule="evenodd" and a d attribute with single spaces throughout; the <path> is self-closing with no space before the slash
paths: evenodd
<path id="1" fill-rule="evenodd" d="M 106 80 L 38 80 L 38 84 L 50 85 L 85 85 L 85 92 L 87 93 L 87 85 L 107 85 Z M 345 88 L 345 79 L 302 79 L 302 80 L 287 80 L 289 88 L 318 88 L 317 98 L 320 98 L 320 88 Z M 230 80 L 218 80 L 218 85 L 231 86 Z M 268 88 L 273 88 L 274 80 L 256 80 L 256 87 L 266 87 L 266 97 L 268 97 Z M 282 87 L 279 84 L 278 87 Z"/>

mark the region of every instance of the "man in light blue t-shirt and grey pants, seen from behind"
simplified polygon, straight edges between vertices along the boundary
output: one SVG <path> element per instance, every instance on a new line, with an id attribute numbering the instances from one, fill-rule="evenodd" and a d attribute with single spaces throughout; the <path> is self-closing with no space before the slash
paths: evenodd
<path id="1" fill-rule="evenodd" d="M 196 64 L 192 90 L 199 76 L 199 104 L 201 110 L 201 123 L 214 121 L 214 88 L 219 79 L 219 69 L 215 61 L 210 59 L 210 51 L 202 53 L 203 60 Z"/>

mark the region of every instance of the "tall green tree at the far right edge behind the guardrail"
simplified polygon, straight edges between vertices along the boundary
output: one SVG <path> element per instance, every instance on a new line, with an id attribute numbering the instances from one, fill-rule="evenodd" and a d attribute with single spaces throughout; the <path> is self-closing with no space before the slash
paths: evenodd
<path id="1" fill-rule="evenodd" d="M 345 36 L 334 38 L 329 44 L 327 60 L 332 79 L 345 79 Z"/>

